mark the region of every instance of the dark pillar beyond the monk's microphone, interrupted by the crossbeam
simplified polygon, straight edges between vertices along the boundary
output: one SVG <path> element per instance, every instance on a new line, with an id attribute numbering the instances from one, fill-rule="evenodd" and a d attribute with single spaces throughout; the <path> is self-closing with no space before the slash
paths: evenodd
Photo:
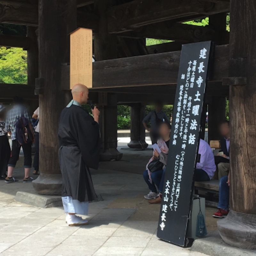
<path id="1" fill-rule="evenodd" d="M 94 10 L 99 14 L 99 32 L 94 34 L 95 59 L 110 60 L 117 57 L 116 35 L 108 34 L 106 11 L 115 4 L 114 0 L 95 0 Z M 100 128 L 102 140 L 101 161 L 120 160 L 122 154 L 117 148 L 117 97 L 106 94 L 107 104 L 100 106 Z M 100 103 L 100 102 L 99 102 Z"/>

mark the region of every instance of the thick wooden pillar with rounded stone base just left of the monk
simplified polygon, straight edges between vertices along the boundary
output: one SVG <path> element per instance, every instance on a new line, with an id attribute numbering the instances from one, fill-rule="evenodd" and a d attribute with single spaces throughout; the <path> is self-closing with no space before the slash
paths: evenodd
<path id="1" fill-rule="evenodd" d="M 69 33 L 76 28 L 76 0 L 39 0 L 40 176 L 33 181 L 39 194 L 59 195 L 62 179 L 58 160 L 58 122 L 65 107 L 61 63 L 69 56 Z"/>

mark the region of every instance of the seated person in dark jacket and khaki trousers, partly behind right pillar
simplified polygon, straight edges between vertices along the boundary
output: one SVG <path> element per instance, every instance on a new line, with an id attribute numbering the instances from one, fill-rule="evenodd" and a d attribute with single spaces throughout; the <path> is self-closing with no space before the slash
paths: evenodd
<path id="1" fill-rule="evenodd" d="M 229 131 L 229 122 L 224 121 L 220 124 L 220 134 L 222 136 L 222 139 L 220 140 L 220 153 L 218 154 L 218 177 L 219 180 L 223 176 L 227 176 L 230 164 L 229 164 L 229 137 L 230 137 L 230 131 Z"/>

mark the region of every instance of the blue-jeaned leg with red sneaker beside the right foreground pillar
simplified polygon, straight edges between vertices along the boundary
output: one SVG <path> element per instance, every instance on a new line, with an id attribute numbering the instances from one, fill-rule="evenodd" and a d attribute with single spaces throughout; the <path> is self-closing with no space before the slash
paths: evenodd
<path id="1" fill-rule="evenodd" d="M 214 218 L 225 218 L 228 215 L 228 203 L 229 203 L 229 173 L 228 176 L 220 178 L 219 187 L 219 203 L 218 212 L 215 212 L 212 217 Z"/>

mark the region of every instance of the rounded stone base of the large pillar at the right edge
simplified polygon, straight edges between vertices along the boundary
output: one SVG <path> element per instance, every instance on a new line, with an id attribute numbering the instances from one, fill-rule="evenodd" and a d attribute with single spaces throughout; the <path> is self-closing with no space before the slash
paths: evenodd
<path id="1" fill-rule="evenodd" d="M 221 238 L 227 244 L 244 249 L 256 249 L 256 214 L 230 211 L 217 222 Z"/>

